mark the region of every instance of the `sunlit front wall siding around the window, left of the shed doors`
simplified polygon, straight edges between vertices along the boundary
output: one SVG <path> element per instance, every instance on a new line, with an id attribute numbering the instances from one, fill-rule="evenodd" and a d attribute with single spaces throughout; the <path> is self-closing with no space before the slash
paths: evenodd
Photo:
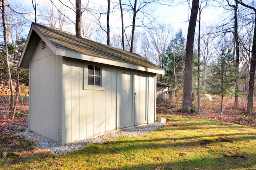
<path id="1" fill-rule="evenodd" d="M 117 68 L 104 66 L 104 70 L 105 90 L 83 90 L 84 62 L 64 59 L 62 144 L 116 132 Z"/>

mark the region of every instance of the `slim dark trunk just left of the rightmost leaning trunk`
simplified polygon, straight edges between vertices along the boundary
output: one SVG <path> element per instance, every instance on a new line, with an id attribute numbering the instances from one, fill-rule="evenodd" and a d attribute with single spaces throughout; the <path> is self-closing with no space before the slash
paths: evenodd
<path id="1" fill-rule="evenodd" d="M 235 43 L 236 43 L 236 81 L 238 81 L 239 78 L 239 42 L 238 42 L 238 23 L 237 23 L 237 7 L 238 3 L 236 2 L 236 6 L 234 7 L 234 18 L 235 18 Z M 238 108 L 238 84 L 236 84 L 236 95 L 235 95 L 235 102 L 234 102 L 234 108 Z"/>

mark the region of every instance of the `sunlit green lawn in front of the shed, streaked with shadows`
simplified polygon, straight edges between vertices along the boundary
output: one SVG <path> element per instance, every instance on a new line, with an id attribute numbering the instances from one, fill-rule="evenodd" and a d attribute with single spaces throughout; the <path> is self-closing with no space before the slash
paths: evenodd
<path id="1" fill-rule="evenodd" d="M 183 116 L 165 118 L 168 126 L 156 132 L 89 145 L 70 154 L 15 152 L 1 158 L 0 169 L 256 169 L 256 128 Z"/>

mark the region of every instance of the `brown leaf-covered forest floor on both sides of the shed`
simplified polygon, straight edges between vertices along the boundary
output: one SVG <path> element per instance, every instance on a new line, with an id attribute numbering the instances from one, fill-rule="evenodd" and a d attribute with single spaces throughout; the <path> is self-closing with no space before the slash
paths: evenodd
<path id="1" fill-rule="evenodd" d="M 28 100 L 22 99 L 25 104 L 22 104 L 18 109 L 23 112 L 28 112 Z M 178 101 L 180 102 L 180 101 Z M 214 120 L 222 120 L 226 122 L 232 122 L 235 124 L 242 124 L 245 126 L 256 127 L 256 112 L 254 114 L 245 114 L 245 108 L 240 106 L 238 109 L 232 108 L 233 104 L 230 104 L 225 108 L 224 114 L 220 117 L 220 102 L 219 100 L 201 100 L 200 113 L 181 113 L 178 112 L 180 105 L 177 102 L 175 107 L 172 106 L 172 100 L 158 101 L 156 107 L 156 114 L 163 115 L 182 115 L 191 116 L 196 118 L 209 118 Z M 181 103 L 181 102 L 180 102 Z M 0 133 L 16 133 L 23 132 L 28 127 L 28 116 L 16 114 L 14 121 L 12 121 L 12 114 L 8 113 L 8 107 L 0 102 Z"/>

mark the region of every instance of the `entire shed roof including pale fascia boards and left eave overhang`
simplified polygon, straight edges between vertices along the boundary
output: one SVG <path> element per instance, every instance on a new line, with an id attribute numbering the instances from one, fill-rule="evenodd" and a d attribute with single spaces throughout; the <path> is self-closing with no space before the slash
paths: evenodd
<path id="1" fill-rule="evenodd" d="M 56 55 L 99 62 L 124 68 L 164 74 L 164 70 L 142 56 L 32 23 L 19 66 L 28 68 L 40 38 Z"/>

